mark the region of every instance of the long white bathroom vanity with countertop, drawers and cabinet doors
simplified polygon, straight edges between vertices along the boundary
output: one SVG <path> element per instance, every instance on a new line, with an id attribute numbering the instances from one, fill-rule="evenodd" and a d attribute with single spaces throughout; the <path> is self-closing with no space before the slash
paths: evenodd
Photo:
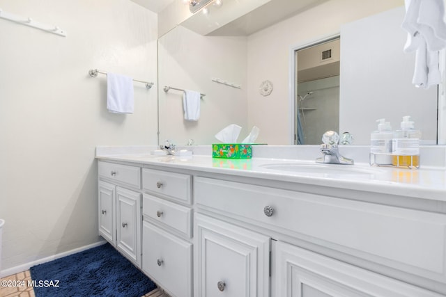
<path id="1" fill-rule="evenodd" d="M 99 232 L 173 296 L 446 294 L 445 168 L 149 152 L 97 148 Z"/>

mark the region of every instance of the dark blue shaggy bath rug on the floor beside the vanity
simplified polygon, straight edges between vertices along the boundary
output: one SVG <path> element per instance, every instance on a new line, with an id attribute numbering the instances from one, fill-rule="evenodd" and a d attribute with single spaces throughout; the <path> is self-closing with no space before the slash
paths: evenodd
<path id="1" fill-rule="evenodd" d="M 109 243 L 30 268 L 36 297 L 141 297 L 156 285 Z"/>

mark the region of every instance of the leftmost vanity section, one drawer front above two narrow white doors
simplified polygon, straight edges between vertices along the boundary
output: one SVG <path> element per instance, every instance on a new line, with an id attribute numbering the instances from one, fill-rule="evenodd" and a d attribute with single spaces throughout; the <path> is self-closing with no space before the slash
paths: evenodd
<path id="1" fill-rule="evenodd" d="M 98 161 L 99 234 L 141 266 L 141 168 Z"/>

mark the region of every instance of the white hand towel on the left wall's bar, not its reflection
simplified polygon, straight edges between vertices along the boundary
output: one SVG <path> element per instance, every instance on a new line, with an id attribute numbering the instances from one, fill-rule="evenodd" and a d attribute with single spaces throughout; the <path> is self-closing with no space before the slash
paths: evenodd
<path id="1" fill-rule="evenodd" d="M 111 113 L 133 113 L 133 80 L 120 74 L 107 73 L 107 109 Z"/>

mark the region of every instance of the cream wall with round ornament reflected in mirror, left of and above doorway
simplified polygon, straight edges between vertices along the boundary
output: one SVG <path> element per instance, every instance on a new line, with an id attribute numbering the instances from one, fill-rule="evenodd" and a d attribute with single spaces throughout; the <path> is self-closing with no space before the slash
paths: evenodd
<path id="1" fill-rule="evenodd" d="M 259 143 L 291 144 L 289 106 L 290 51 L 318 38 L 339 33 L 356 19 L 404 5 L 403 0 L 330 0 L 248 37 L 248 126 L 260 128 Z M 259 94 L 262 81 L 274 84 L 270 96 Z M 368 133 L 368 132 L 367 132 Z"/>

